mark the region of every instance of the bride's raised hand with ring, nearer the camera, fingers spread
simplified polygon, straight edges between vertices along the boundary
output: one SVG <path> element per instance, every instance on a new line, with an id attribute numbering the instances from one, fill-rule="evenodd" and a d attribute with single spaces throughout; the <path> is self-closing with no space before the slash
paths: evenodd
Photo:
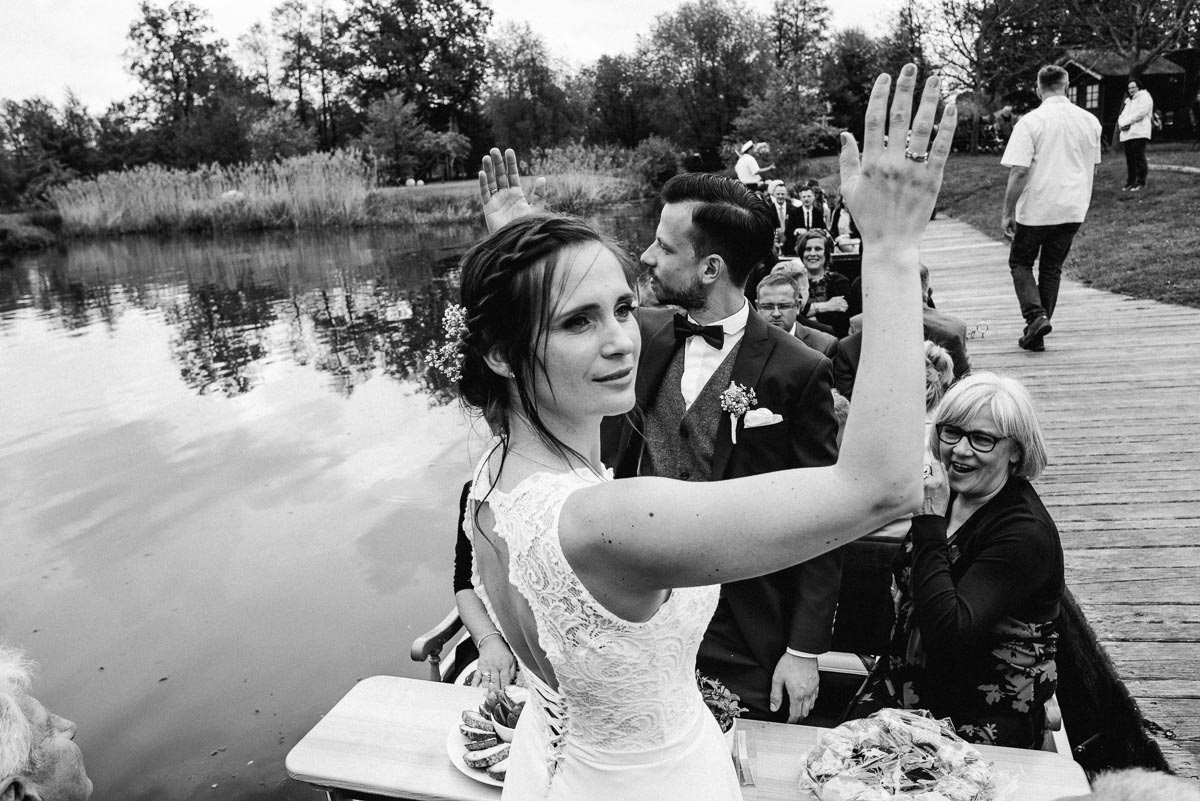
<path id="1" fill-rule="evenodd" d="M 862 159 L 854 138 L 842 134 L 841 193 L 864 246 L 916 248 L 934 213 L 958 114 L 953 103 L 946 107 L 930 147 L 941 82 L 937 77 L 925 82 L 912 118 L 916 83 L 917 67 L 906 65 L 889 109 L 892 80 L 886 74 L 875 80 L 866 104 Z"/>

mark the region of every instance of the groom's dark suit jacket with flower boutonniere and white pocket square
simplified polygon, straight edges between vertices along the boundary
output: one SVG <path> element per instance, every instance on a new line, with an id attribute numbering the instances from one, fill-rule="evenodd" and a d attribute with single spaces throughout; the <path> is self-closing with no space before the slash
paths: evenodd
<path id="1" fill-rule="evenodd" d="M 618 477 L 637 475 L 644 445 L 638 412 L 654 401 L 674 355 L 671 318 L 670 312 L 660 309 L 638 312 L 642 359 L 637 367 L 637 408 L 626 417 L 605 421 L 605 463 L 613 466 Z M 733 365 L 733 380 L 752 387 L 757 408 L 781 414 L 784 421 L 743 428 L 738 430 L 738 444 L 733 445 L 730 416 L 721 415 L 712 478 L 833 464 L 838 459 L 838 422 L 829 391 L 832 378 L 828 359 L 751 312 Z M 614 447 L 619 448 L 616 458 Z M 829 649 L 840 584 L 841 554 L 833 552 L 768 576 L 722 586 L 732 625 L 752 651 L 752 660 L 767 671 L 768 685 L 785 648 L 812 654 Z M 733 692 L 742 694 L 737 676 L 720 677 Z M 766 694 L 769 689 L 767 686 L 758 692 Z"/>

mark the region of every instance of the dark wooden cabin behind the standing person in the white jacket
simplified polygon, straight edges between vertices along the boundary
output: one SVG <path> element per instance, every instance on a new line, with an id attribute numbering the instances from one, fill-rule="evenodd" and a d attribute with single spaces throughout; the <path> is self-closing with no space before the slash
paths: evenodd
<path id="1" fill-rule="evenodd" d="M 1141 74 L 1142 85 L 1163 118 L 1163 128 L 1154 131 L 1154 139 L 1192 139 L 1200 133 L 1193 119 L 1200 70 L 1188 53 L 1178 50 L 1159 56 Z M 1129 83 L 1129 61 L 1110 50 L 1078 49 L 1068 50 L 1058 64 L 1070 76 L 1070 100 L 1099 118 L 1106 143 L 1116 141 L 1114 132 Z"/>

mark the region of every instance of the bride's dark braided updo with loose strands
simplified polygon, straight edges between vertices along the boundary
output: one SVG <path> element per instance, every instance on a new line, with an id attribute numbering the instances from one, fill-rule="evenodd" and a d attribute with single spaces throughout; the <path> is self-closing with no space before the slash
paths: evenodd
<path id="1" fill-rule="evenodd" d="M 563 448 L 538 412 L 533 379 L 535 372 L 546 374 L 546 331 L 554 294 L 564 285 L 563 254 L 592 242 L 617 257 L 628 281 L 630 260 L 620 247 L 571 217 L 515 219 L 463 257 L 461 301 L 467 309 L 467 333 L 458 393 L 502 440 L 508 439 L 509 415 L 517 412 L 548 445 Z M 488 367 L 485 356 L 490 353 L 504 359 L 511 379 Z M 511 408 L 510 385 L 516 389 L 517 409 Z"/>

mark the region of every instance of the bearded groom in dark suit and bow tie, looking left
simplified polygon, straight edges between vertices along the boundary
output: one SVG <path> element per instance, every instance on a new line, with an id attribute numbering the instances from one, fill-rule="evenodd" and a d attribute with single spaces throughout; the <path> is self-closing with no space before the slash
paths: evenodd
<path id="1" fill-rule="evenodd" d="M 619 477 L 685 481 L 833 464 L 829 361 L 767 325 L 744 294 L 746 277 L 772 252 L 770 206 L 737 181 L 703 174 L 671 179 L 662 199 L 654 242 L 641 260 L 660 302 L 686 317 L 638 312 L 637 408 L 605 421 L 605 463 Z M 731 420 L 722 395 L 749 397 L 749 390 L 755 403 Z M 740 695 L 749 717 L 806 717 L 840 583 L 834 552 L 724 585 L 697 667 Z"/>

